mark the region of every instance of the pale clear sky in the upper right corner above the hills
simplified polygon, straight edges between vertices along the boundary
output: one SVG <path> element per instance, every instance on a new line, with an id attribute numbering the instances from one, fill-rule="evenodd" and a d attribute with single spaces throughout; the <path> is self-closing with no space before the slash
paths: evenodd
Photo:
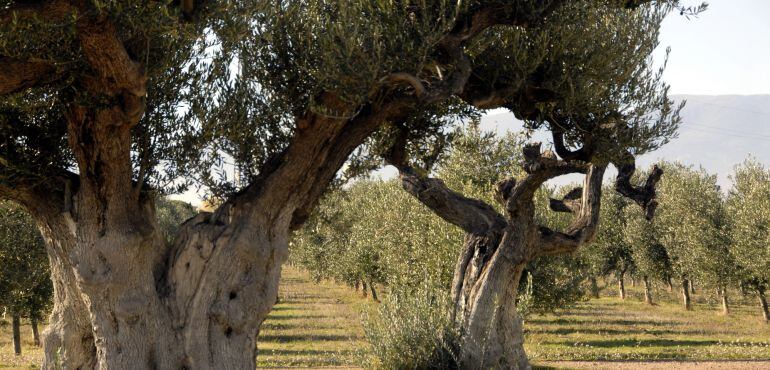
<path id="1" fill-rule="evenodd" d="M 672 49 L 665 74 L 671 92 L 770 94 L 770 0 L 708 3 L 697 18 L 671 14 L 663 24 L 661 47 Z"/>

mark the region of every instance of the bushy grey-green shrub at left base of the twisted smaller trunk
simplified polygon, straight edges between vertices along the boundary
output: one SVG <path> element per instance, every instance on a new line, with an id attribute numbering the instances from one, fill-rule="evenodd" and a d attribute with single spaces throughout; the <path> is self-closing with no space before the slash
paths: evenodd
<path id="1" fill-rule="evenodd" d="M 448 295 L 431 288 L 395 291 L 364 315 L 374 368 L 456 369 L 459 331 Z"/>

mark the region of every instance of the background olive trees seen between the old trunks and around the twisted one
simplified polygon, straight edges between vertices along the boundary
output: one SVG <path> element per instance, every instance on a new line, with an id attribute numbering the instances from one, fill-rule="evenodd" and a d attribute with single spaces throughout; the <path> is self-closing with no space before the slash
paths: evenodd
<path id="1" fill-rule="evenodd" d="M 496 137 L 475 124 L 455 135 L 452 150 L 436 172 L 450 188 L 494 203 L 493 188 L 517 170 L 524 138 Z M 547 205 L 554 193 L 541 190 L 539 203 Z M 543 223 L 566 223 L 558 213 L 545 207 L 540 211 Z M 317 280 L 362 287 L 363 294 L 371 292 L 377 299 L 377 286 L 411 290 L 427 284 L 448 290 L 463 238 L 461 229 L 436 216 L 398 182 L 362 180 L 327 195 L 307 227 L 295 234 L 290 258 Z M 555 302 L 579 299 L 583 274 L 566 273 L 575 268 L 583 264 L 570 257 L 530 263 L 527 273 L 538 282 L 530 308 L 545 310 Z M 526 293 L 526 285 L 521 290 Z"/>

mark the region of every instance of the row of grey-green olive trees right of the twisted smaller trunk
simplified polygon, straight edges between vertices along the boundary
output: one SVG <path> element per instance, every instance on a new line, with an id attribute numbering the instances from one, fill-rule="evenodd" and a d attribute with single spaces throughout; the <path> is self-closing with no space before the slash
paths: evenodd
<path id="1" fill-rule="evenodd" d="M 605 192 L 603 224 L 596 241 L 581 253 L 592 278 L 614 274 L 625 298 L 627 273 L 641 278 L 645 302 L 652 282 L 681 284 L 682 303 L 692 309 L 693 280 L 714 288 L 729 313 L 728 288 L 753 291 L 768 320 L 765 292 L 770 282 L 770 171 L 753 159 L 731 176 L 725 195 L 716 176 L 677 163 L 660 164 L 657 217 L 647 221 L 628 202 Z M 750 289 L 747 289 L 750 288 Z"/>

